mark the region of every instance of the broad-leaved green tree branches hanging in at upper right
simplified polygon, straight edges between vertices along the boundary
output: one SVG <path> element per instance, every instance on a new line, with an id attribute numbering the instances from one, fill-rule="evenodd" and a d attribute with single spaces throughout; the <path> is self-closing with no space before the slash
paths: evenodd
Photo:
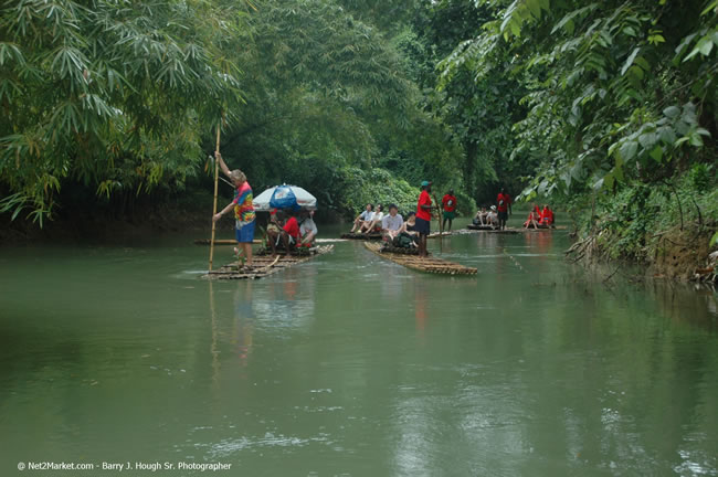
<path id="1" fill-rule="evenodd" d="M 440 86 L 464 84 L 468 70 L 476 86 L 510 78 L 524 88 L 524 113 L 505 142 L 532 176 L 521 199 L 584 208 L 583 198 L 664 187 L 690 170 L 695 191 L 715 188 L 707 169 L 718 134 L 715 2 L 477 3 L 494 18 L 457 42 Z M 484 115 L 473 108 L 474 118 Z M 640 243 L 646 212 L 613 212 L 632 218 L 622 240 Z"/>

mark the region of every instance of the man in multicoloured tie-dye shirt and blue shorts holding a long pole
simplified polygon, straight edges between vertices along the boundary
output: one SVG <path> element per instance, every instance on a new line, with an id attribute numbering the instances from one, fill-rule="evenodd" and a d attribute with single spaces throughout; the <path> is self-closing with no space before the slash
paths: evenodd
<path id="1" fill-rule="evenodd" d="M 230 171 L 222 160 L 222 155 L 214 151 L 214 157 L 219 161 L 222 172 L 230 178 L 234 184 L 234 200 L 230 202 L 221 212 L 212 218 L 214 222 L 220 220 L 222 215 L 234 209 L 234 236 L 236 239 L 239 248 L 235 248 L 237 256 L 244 253 L 246 257 L 245 268 L 252 268 L 252 241 L 254 241 L 254 205 L 252 204 L 252 188 L 246 181 L 246 176 L 239 169 Z"/>

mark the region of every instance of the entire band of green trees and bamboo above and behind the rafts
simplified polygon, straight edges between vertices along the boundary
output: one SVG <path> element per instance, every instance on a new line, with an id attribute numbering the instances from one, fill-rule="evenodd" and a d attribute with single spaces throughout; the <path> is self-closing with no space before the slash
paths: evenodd
<path id="1" fill-rule="evenodd" d="M 638 248 L 657 214 L 715 230 L 718 1 L 579 3 L 0 0 L 0 211 L 209 193 L 221 123 L 255 190 L 342 214 L 431 179 Z"/>

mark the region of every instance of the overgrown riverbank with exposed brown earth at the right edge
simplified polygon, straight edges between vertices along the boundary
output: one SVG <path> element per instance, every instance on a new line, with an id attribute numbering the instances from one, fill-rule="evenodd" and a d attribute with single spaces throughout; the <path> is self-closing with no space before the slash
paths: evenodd
<path id="1" fill-rule="evenodd" d="M 627 263 L 645 276 L 717 283 L 718 191 L 689 177 L 671 183 L 633 186 L 591 204 L 574 204 L 574 262 Z"/>

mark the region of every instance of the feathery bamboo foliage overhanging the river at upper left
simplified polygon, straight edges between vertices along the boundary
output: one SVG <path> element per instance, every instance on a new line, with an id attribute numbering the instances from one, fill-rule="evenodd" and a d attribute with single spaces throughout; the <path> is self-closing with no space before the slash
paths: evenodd
<path id="1" fill-rule="evenodd" d="M 210 118 L 240 99 L 225 51 L 243 38 L 241 13 L 212 1 L 2 1 L 0 177 L 13 192 L 2 208 L 42 218 L 65 178 L 109 194 L 191 173 Z"/>

